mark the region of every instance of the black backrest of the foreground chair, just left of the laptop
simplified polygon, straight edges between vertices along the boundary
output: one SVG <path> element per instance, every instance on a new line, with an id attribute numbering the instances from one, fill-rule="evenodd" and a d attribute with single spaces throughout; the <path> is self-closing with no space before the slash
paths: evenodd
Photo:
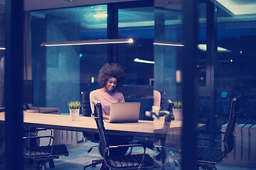
<path id="1" fill-rule="evenodd" d="M 94 107 L 95 107 L 95 115 L 97 116 L 95 117 L 95 122 L 100 135 L 99 152 L 100 152 L 100 155 L 104 157 L 104 154 L 105 154 L 104 152 L 105 152 L 105 149 L 109 147 L 109 142 L 107 139 L 107 133 L 103 123 L 102 105 L 97 101 L 92 101 L 92 103 L 94 104 Z"/>

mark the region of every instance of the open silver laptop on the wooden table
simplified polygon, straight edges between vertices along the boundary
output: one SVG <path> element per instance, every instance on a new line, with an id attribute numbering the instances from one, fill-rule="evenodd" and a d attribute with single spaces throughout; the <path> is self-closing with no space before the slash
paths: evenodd
<path id="1" fill-rule="evenodd" d="M 139 120 L 140 102 L 110 104 L 110 119 L 107 123 L 134 123 Z"/>

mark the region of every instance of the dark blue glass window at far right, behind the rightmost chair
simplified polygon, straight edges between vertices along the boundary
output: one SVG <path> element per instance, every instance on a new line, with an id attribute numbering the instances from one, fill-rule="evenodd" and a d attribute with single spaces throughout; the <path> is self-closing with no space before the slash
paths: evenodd
<path id="1" fill-rule="evenodd" d="M 241 95 L 244 105 L 240 119 L 249 123 L 256 118 L 256 17 L 252 14 L 230 15 L 223 8 L 218 8 L 217 14 L 216 114 L 226 117 L 231 98 Z"/>

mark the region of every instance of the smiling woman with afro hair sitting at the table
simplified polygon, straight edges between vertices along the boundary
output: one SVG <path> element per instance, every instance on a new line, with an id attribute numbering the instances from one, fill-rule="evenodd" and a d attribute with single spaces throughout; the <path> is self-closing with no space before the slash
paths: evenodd
<path id="1" fill-rule="evenodd" d="M 102 69 L 100 69 L 98 78 L 98 83 L 102 86 L 101 89 L 90 92 L 90 106 L 92 113 L 94 113 L 94 105 L 92 101 L 95 99 L 102 105 L 102 115 L 104 119 L 109 119 L 110 117 L 110 103 L 125 102 L 124 95 L 117 91 L 125 81 L 125 72 L 119 64 L 105 64 Z M 126 145 L 128 141 L 125 137 L 118 135 L 107 135 L 109 143 L 111 145 Z M 112 149 L 110 154 L 125 154 L 127 148 L 122 149 Z M 109 169 L 107 164 L 103 163 L 103 170 Z"/>

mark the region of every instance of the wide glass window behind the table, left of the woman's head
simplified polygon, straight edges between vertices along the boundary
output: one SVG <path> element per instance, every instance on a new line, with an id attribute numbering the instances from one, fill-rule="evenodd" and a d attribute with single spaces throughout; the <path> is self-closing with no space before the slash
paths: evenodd
<path id="1" fill-rule="evenodd" d="M 106 5 L 32 11 L 34 103 L 68 113 L 68 101 L 97 89 L 94 80 L 107 62 L 107 45 L 41 47 L 41 42 L 106 38 Z"/>

